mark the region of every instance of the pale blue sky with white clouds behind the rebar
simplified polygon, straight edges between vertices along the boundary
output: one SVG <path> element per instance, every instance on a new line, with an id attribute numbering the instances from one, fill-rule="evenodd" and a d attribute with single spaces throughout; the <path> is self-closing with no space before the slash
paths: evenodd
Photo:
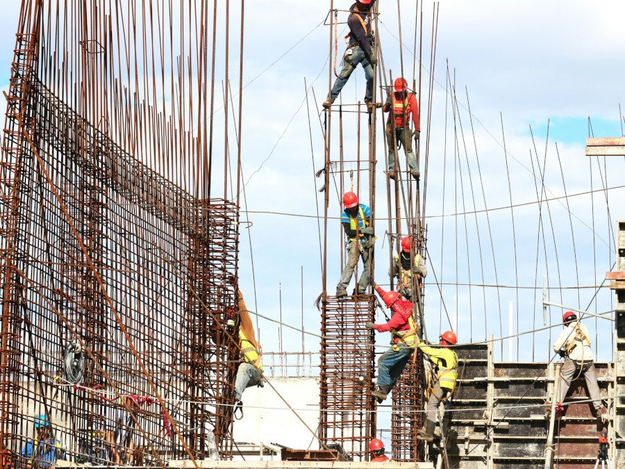
<path id="1" fill-rule="evenodd" d="M 344 7 L 349 3 L 344 2 Z M 322 26 L 329 2 L 276 0 L 271 8 L 267 8 L 265 2 L 247 2 L 246 5 L 244 82 L 258 76 L 244 91 L 244 179 L 247 181 L 258 171 L 247 184 L 247 208 L 253 212 L 315 215 L 315 197 L 320 205 L 323 200 L 322 195 L 315 192 L 313 168 L 319 169 L 323 164 L 323 140 L 317 112 L 329 85 L 328 28 Z M 387 68 L 392 69 L 393 76 L 399 74 L 400 68 L 399 44 L 393 37 L 398 31 L 396 7 L 394 3 L 381 1 L 382 24 L 378 31 L 384 61 Z M 237 8 L 233 6 L 233 10 Z M 402 2 L 402 8 L 404 38 L 412 38 L 414 2 Z M 553 198 L 565 195 L 565 190 L 568 195 L 586 192 L 591 183 L 594 190 L 606 184 L 622 185 L 623 158 L 612 158 L 605 163 L 603 160 L 590 161 L 584 154 L 584 145 L 588 117 L 592 119 L 596 136 L 621 135 L 619 103 L 625 102 L 621 79 L 625 65 L 620 58 L 625 49 L 625 37 L 619 18 L 625 13 L 624 8 L 616 1 L 502 3 L 456 0 L 441 3 L 426 206 L 428 266 L 431 270 L 426 286 L 426 322 L 433 336 L 449 327 L 445 309 L 450 316 L 457 313 L 461 341 L 483 340 L 488 334 L 498 337 L 502 331 L 505 335 L 509 301 L 514 303 L 515 315 L 519 318 L 518 324 L 515 319 L 515 332 L 542 327 L 540 291 L 535 299 L 531 287 L 542 286 L 543 277 L 549 277 L 551 287 L 596 286 L 603 281 L 614 257 L 611 237 L 615 220 L 625 216 L 622 203 L 619 203 L 624 198 L 623 189 L 608 191 L 610 219 L 603 192 L 573 197 L 568 201 L 555 199 L 548 204 L 535 202 L 541 194 L 542 198 Z M 425 2 L 424 129 L 428 114 L 426 70 L 430 63 L 431 12 L 432 3 Z M 0 51 L 0 86 L 6 88 L 17 6 L 4 6 L 0 22 L 0 39 L 5 44 Z M 268 31 L 278 33 L 269 34 Z M 280 58 L 292 46 L 293 49 Z M 403 60 L 404 68 L 410 70 L 405 75 L 412 81 L 409 49 L 411 47 L 407 46 Z M 342 54 L 341 50 L 339 54 Z M 445 90 L 447 63 L 451 79 L 456 83 L 458 99 L 456 143 L 451 93 Z M 312 92 L 309 94 L 312 156 L 304 79 L 309 87 L 312 86 L 317 98 L 315 102 Z M 342 99 L 362 99 L 363 91 L 363 72 L 357 69 L 344 88 Z M 472 116 L 467 113 L 469 104 Z M 500 113 L 505 128 L 508 170 L 503 154 Z M 219 115 L 216 118 L 219 119 Z M 548 121 L 549 142 L 545 147 Z M 529 134 L 530 125 L 540 156 L 538 160 Z M 353 116 L 345 117 L 344 128 L 344 154 L 348 158 L 358 147 Z M 333 131 L 333 135 L 337 134 Z M 425 137 L 425 132 L 423 135 Z M 385 181 L 381 174 L 383 134 L 379 129 L 377 138 L 376 279 L 385 283 L 387 210 Z M 424 142 L 422 139 L 422 156 Z M 361 139 L 360 147 L 366 147 L 366 140 Z M 332 158 L 338 158 L 336 140 Z M 403 158 L 401 154 L 400 158 Z M 536 167 L 532 171 L 532 165 L 539 164 L 537 161 L 540 165 L 546 161 L 544 191 L 540 172 Z M 485 213 L 440 216 L 510 204 L 508 176 L 513 204 L 528 204 L 514 210 L 515 233 L 512 232 L 509 209 L 490 212 L 488 218 Z M 360 195 L 369 199 L 365 189 Z M 330 214 L 337 217 L 340 215 L 338 196 L 333 189 Z M 320 317 L 312 306 L 322 285 L 317 222 L 313 218 L 269 213 L 250 213 L 249 218 L 253 226 L 243 230 L 240 256 L 241 288 L 249 306 L 258 308 L 263 315 L 278 318 L 278 289 L 281 286 L 283 319 L 299 326 L 303 268 L 303 322 L 307 330 L 318 332 Z M 539 231 L 541 220 L 543 228 Z M 328 227 L 328 290 L 333 291 L 340 274 L 339 240 L 342 234 L 336 220 L 331 220 Z M 248 235 L 253 247 L 253 274 Z M 527 288 L 519 290 L 517 303 L 517 290 L 512 288 L 497 291 L 492 287 L 456 288 L 446 284 L 440 287 L 443 304 L 439 288 L 433 283 L 434 273 L 443 283 L 482 285 L 498 281 L 499 285 L 515 286 L 518 278 L 519 286 Z M 253 299 L 254 280 L 258 304 Z M 584 288 L 579 291 L 578 296 L 577 290 L 553 289 L 550 297 L 565 302 L 567 306 L 581 305 L 584 308 L 592 299 L 594 290 Z M 603 289 L 597 297 L 597 304 L 593 303 L 592 307 L 606 311 L 611 307 L 610 299 L 609 290 Z M 557 324 L 560 315 L 559 309 L 549 308 L 548 322 Z M 378 322 L 381 320 L 383 318 L 379 317 Z M 276 325 L 260 320 L 260 329 L 265 350 L 276 351 Z M 605 320 L 593 320 L 591 329 L 597 331 L 595 339 L 608 337 L 611 324 Z M 556 328 L 551 333 L 543 331 L 535 336 L 522 336 L 514 344 L 515 359 L 548 359 L 551 355 L 549 338 L 555 337 L 557 331 Z M 285 349 L 301 349 L 299 332 L 285 329 L 283 338 Z M 387 336 L 380 336 L 378 343 L 387 343 Z M 306 338 L 306 349 L 317 350 L 318 347 L 317 338 Z M 597 346 L 597 352 L 600 359 L 609 359 L 612 354 L 610 341 L 603 340 Z M 498 353 L 501 355 L 501 351 Z M 503 355 L 507 356 L 506 348 Z"/>

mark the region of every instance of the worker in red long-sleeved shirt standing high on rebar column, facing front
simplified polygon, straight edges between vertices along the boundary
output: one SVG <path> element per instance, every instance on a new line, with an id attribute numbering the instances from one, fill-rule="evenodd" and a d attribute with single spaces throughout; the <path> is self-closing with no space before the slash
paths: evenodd
<path id="1" fill-rule="evenodd" d="M 419 140 L 421 127 L 419 126 L 419 106 L 415 94 L 408 92 L 408 82 L 403 78 L 395 80 L 393 92 L 390 93 L 384 104 L 383 111 L 389 113 L 386 121 L 386 140 L 388 143 L 388 176 L 395 178 L 395 161 L 397 156 L 397 146 L 401 143 L 403 151 L 406 152 L 408 160 L 408 170 L 412 177 L 419 177 L 417 158 L 412 151 L 412 135 L 415 140 Z M 410 115 L 415 123 L 415 132 L 410 129 Z"/>

